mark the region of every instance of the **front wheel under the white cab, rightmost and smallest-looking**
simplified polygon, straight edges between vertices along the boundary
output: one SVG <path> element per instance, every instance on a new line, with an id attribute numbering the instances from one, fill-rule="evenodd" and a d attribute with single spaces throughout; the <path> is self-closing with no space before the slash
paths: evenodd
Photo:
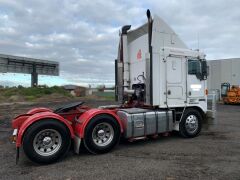
<path id="1" fill-rule="evenodd" d="M 203 117 L 196 109 L 186 109 L 179 124 L 179 133 L 183 137 L 196 137 L 202 128 Z"/>

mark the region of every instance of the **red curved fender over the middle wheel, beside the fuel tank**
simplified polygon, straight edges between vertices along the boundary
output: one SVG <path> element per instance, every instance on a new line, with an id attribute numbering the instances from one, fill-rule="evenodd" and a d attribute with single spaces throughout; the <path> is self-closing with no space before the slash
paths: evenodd
<path id="1" fill-rule="evenodd" d="M 79 117 L 79 123 L 76 124 L 75 126 L 75 133 L 83 138 L 84 137 L 84 131 L 85 128 L 87 126 L 87 124 L 89 123 L 89 121 L 99 115 L 99 114 L 108 114 L 110 116 L 112 116 L 114 119 L 116 119 L 116 121 L 118 122 L 120 129 L 121 129 L 121 133 L 123 132 L 123 125 L 122 125 L 122 121 L 121 119 L 117 116 L 116 111 L 115 110 L 108 110 L 108 109 L 90 109 L 86 112 L 84 112 L 80 117 Z"/>

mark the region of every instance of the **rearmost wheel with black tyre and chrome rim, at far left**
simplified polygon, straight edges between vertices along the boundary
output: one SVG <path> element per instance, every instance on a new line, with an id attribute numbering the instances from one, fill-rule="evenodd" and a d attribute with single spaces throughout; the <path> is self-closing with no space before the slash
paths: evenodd
<path id="1" fill-rule="evenodd" d="M 40 120 L 31 125 L 23 138 L 23 150 L 33 162 L 48 164 L 63 157 L 71 145 L 68 128 L 53 119 Z"/>

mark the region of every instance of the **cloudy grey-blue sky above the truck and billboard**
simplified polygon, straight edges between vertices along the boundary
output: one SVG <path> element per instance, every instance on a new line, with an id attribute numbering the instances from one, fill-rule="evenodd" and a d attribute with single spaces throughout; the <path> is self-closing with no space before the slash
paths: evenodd
<path id="1" fill-rule="evenodd" d="M 58 61 L 60 76 L 39 76 L 39 84 L 112 86 L 119 30 L 145 23 L 147 9 L 211 60 L 240 57 L 239 7 L 239 0 L 0 0 L 0 53 Z M 30 86 L 30 75 L 0 74 L 0 85 Z"/>

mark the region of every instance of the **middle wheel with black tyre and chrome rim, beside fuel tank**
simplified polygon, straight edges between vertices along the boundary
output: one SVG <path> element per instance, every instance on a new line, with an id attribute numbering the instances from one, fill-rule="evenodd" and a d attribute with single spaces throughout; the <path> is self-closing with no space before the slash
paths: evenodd
<path id="1" fill-rule="evenodd" d="M 98 115 L 90 120 L 85 128 L 84 145 L 93 154 L 106 153 L 119 142 L 120 127 L 117 121 L 109 115 Z"/>

